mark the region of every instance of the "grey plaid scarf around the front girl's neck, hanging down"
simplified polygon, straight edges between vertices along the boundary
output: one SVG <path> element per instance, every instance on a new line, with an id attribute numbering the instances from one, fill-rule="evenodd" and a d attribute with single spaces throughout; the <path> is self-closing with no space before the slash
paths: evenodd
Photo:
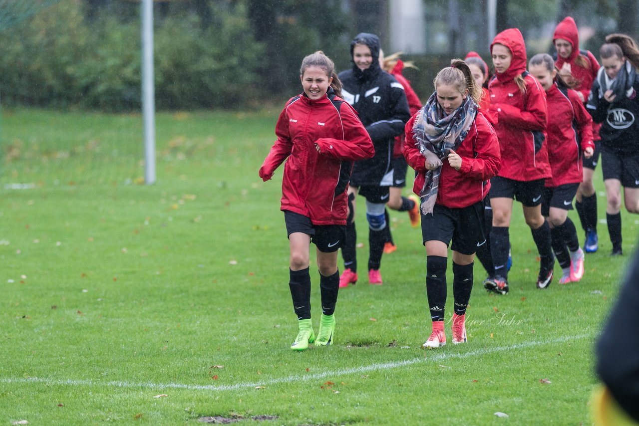
<path id="1" fill-rule="evenodd" d="M 418 112 L 413 135 L 417 140 L 419 152 L 426 157 L 435 170 L 426 172 L 424 187 L 419 192 L 422 199 L 422 213 L 433 213 L 437 200 L 437 188 L 442 172 L 442 159 L 446 158 L 450 149 L 456 150 L 464 141 L 470 126 L 477 115 L 477 103 L 466 96 L 461 106 L 449 116 L 437 101 L 437 92 L 433 93 L 426 105 Z"/>

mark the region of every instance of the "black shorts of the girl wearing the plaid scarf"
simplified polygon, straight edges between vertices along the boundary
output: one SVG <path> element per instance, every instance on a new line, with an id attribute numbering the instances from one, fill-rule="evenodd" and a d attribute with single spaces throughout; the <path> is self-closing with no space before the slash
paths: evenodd
<path id="1" fill-rule="evenodd" d="M 451 209 L 435 204 L 433 214 L 422 214 L 422 242 L 442 241 L 451 250 L 461 254 L 473 254 L 477 247 L 486 244 L 484 202 L 472 206 Z"/>

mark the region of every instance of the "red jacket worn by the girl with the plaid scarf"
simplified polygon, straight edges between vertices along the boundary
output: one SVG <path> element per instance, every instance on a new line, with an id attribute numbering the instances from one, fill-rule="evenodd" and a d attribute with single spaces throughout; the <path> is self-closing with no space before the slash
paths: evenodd
<path id="1" fill-rule="evenodd" d="M 404 157 L 406 162 L 417 172 L 413 192 L 419 195 L 426 179 L 424 156 L 419 152 L 417 141 L 413 137 L 415 116 L 406 123 L 406 144 Z M 459 171 L 443 160 L 442 174 L 437 191 L 437 204 L 448 208 L 463 208 L 482 201 L 490 189 L 488 179 L 497 175 L 500 167 L 499 142 L 493 126 L 481 112 L 477 112 L 468 134 L 456 153 L 461 156 Z"/>

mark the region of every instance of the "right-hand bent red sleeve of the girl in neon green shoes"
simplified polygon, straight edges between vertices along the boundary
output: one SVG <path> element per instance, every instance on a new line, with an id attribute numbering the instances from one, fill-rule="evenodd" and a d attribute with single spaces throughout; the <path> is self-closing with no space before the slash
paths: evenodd
<path id="1" fill-rule="evenodd" d="M 375 155 L 373 141 L 366 132 L 366 128 L 357 116 L 357 112 L 342 102 L 339 115 L 344 129 L 344 139 L 334 139 L 323 137 L 315 141 L 319 145 L 321 152 L 325 155 L 342 161 L 357 161 L 371 158 Z"/>

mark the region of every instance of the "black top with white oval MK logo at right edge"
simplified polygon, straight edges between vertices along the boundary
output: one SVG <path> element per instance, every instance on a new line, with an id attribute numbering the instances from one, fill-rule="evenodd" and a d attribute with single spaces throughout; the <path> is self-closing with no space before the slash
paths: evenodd
<path id="1" fill-rule="evenodd" d="M 586 103 L 592 121 L 602 123 L 599 130 L 601 143 L 620 153 L 635 153 L 639 148 L 639 75 L 633 88 L 635 96 L 632 99 L 624 96 L 610 103 L 599 98 L 599 81 L 595 79 Z"/>

